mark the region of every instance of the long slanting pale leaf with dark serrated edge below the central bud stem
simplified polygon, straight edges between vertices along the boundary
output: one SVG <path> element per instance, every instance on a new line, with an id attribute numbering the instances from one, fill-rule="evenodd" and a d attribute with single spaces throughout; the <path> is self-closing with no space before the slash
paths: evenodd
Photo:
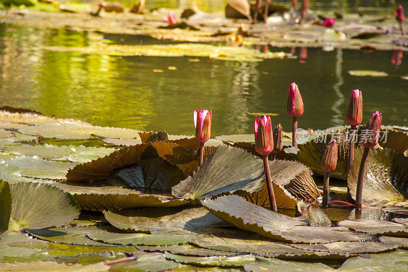
<path id="1" fill-rule="evenodd" d="M 213 214 L 238 228 L 285 242 L 321 243 L 330 241 L 360 241 L 368 235 L 347 232 L 344 228 L 301 226 L 303 222 L 249 203 L 238 195 L 204 199 L 201 204 Z"/>

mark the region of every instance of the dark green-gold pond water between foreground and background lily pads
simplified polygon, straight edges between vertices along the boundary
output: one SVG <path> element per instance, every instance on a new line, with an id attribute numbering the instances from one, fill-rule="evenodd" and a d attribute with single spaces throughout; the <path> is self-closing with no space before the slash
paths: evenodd
<path id="1" fill-rule="evenodd" d="M 363 92 L 363 122 L 378 110 L 385 125 L 408 125 L 408 80 L 401 79 L 408 75 L 406 54 L 401 53 L 397 67 L 391 61 L 393 52 L 324 52 L 321 48 L 269 48 L 293 50 L 302 58 L 263 62 L 209 58 L 191 62 L 191 57 L 112 57 L 39 49 L 99 42 L 161 41 L 0 25 L 0 104 L 94 125 L 171 134 L 193 134 L 193 110 L 207 108 L 213 111 L 213 135 L 252 133 L 254 116 L 248 113 L 253 112 L 278 114 L 273 124 L 281 122 L 290 130 L 286 103 L 289 85 L 296 82 L 305 105 L 301 128 L 346 125 L 353 88 Z M 349 70 L 379 70 L 390 76 L 355 77 Z"/>

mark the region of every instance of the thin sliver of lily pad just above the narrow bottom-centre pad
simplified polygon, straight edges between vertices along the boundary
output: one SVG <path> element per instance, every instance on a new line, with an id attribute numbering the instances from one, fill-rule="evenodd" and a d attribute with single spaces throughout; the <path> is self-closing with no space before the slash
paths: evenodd
<path id="1" fill-rule="evenodd" d="M 210 256 L 233 256 L 238 255 L 238 252 L 229 252 L 229 251 L 220 251 L 212 249 L 203 249 L 197 248 L 189 244 L 178 244 L 178 245 L 138 245 L 138 249 L 145 252 L 169 252 L 177 255 L 186 255 L 186 256 L 201 256 L 201 257 L 210 257 Z"/>

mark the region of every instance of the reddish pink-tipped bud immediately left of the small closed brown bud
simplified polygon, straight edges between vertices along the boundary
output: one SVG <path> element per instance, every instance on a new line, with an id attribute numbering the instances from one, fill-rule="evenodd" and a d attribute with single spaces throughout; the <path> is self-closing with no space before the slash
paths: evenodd
<path id="1" fill-rule="evenodd" d="M 255 116 L 255 150 L 261 155 L 268 155 L 273 150 L 271 117 L 262 115 L 261 122 Z"/>

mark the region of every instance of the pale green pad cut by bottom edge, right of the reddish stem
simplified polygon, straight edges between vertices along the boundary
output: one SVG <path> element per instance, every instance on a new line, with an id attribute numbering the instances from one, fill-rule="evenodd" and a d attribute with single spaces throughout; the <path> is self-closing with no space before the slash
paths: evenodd
<path id="1" fill-rule="evenodd" d="M 172 260 L 167 260 L 164 254 L 149 253 L 139 257 L 136 261 L 114 265 L 110 271 L 159 272 L 176 269 L 177 267 L 179 267 L 179 264 Z"/>

